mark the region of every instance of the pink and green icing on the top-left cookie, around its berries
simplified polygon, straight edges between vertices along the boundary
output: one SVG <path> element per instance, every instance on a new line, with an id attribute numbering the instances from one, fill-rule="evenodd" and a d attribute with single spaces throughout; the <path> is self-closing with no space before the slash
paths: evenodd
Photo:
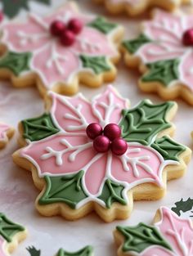
<path id="1" fill-rule="evenodd" d="M 74 36 L 74 43 L 64 46 L 64 38 L 61 43 L 50 27 L 56 20 L 67 26 L 74 18 L 83 28 Z M 119 29 L 104 18 L 79 13 L 70 3 L 44 18 L 30 13 L 26 23 L 3 26 L 1 43 L 7 46 L 7 52 L 0 59 L 0 68 L 16 76 L 38 74 L 46 89 L 59 83 L 70 86 L 80 73 L 98 75 L 112 69 L 110 60 L 119 56 L 113 43 Z"/>

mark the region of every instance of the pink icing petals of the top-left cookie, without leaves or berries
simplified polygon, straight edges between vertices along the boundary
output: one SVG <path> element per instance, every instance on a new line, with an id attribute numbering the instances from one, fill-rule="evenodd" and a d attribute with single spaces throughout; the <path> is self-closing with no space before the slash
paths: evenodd
<path id="1" fill-rule="evenodd" d="M 74 17 L 83 24 L 83 29 L 75 36 L 74 43 L 65 47 L 60 38 L 50 33 L 50 26 L 55 20 L 67 25 Z M 29 14 L 26 23 L 10 22 L 3 26 L 2 43 L 9 51 L 31 53 L 27 72 L 38 74 L 46 88 L 56 83 L 74 84 L 79 73 L 93 74 L 91 68 L 84 67 L 80 56 L 105 56 L 107 61 L 119 56 L 112 43 L 114 29 L 110 34 L 101 33 L 100 29 L 88 25 L 94 19 L 79 13 L 71 4 L 45 18 Z"/>

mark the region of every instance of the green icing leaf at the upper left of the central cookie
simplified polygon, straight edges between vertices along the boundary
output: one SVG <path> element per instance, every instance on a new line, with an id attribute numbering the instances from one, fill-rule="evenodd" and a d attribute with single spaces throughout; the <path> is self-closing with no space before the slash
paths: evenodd
<path id="1" fill-rule="evenodd" d="M 23 137 L 29 141 L 39 141 L 60 131 L 53 123 L 51 115 L 46 113 L 38 118 L 25 119 L 22 125 Z"/>

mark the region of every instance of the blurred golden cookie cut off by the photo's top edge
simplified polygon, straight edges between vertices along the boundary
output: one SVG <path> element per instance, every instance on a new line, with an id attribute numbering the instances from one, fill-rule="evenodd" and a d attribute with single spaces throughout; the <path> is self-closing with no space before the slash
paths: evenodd
<path id="1" fill-rule="evenodd" d="M 137 16 L 146 11 L 149 7 L 161 7 L 168 11 L 173 11 L 182 3 L 191 2 L 191 0 L 94 0 L 105 5 L 112 14 L 127 13 L 129 16 Z"/>

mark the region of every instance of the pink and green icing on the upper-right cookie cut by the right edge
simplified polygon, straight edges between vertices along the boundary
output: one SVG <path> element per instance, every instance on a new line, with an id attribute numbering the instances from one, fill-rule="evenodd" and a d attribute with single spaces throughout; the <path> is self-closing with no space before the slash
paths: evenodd
<path id="1" fill-rule="evenodd" d="M 193 16 L 177 16 L 164 11 L 155 11 L 153 20 L 143 24 L 142 34 L 123 47 L 133 56 L 141 59 L 148 72 L 141 82 L 159 82 L 164 87 L 177 84 L 193 91 L 193 52 L 192 45 L 184 39 L 185 33 L 192 29 Z M 187 35 L 190 37 L 190 33 Z"/>

